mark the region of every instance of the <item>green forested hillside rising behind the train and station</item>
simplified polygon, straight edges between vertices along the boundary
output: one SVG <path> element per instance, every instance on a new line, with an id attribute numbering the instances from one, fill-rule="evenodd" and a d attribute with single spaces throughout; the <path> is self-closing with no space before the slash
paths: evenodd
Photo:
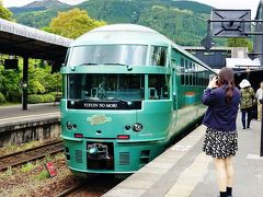
<path id="1" fill-rule="evenodd" d="M 198 2 L 173 0 L 89 0 L 73 7 L 57 0 L 44 0 L 10 10 L 18 23 L 43 28 L 58 12 L 73 8 L 85 10 L 91 18 L 107 24 L 141 24 L 179 45 L 193 46 L 201 45 L 211 10 L 211 7 Z"/>

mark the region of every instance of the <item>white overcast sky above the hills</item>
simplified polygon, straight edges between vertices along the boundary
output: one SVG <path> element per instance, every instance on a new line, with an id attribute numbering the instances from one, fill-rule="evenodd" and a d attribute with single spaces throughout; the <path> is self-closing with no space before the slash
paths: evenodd
<path id="1" fill-rule="evenodd" d="M 3 5 L 9 7 L 22 7 L 34 0 L 3 0 Z M 78 4 L 84 0 L 59 0 L 68 4 Z M 251 18 L 254 19 L 255 12 L 260 0 L 196 0 L 205 4 L 209 4 L 217 9 L 249 9 L 251 10 Z"/>

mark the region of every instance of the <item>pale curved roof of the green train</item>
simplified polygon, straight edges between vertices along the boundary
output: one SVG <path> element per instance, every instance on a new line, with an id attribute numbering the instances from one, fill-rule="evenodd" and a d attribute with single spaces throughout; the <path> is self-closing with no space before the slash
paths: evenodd
<path id="1" fill-rule="evenodd" d="M 159 32 L 137 24 L 112 24 L 94 28 L 71 43 L 71 47 L 83 45 L 135 44 L 169 46 L 179 50 L 192 60 L 211 70 L 198 58 L 184 50 Z M 213 71 L 213 70 L 211 70 Z"/>

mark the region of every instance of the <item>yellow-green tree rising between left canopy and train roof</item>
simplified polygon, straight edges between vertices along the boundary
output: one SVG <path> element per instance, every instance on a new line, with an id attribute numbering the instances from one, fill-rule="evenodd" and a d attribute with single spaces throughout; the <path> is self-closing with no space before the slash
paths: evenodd
<path id="1" fill-rule="evenodd" d="M 45 30 L 65 37 L 77 38 L 85 32 L 105 24 L 104 21 L 93 20 L 87 11 L 77 8 L 59 12 L 57 18 L 52 20 L 49 28 Z"/>

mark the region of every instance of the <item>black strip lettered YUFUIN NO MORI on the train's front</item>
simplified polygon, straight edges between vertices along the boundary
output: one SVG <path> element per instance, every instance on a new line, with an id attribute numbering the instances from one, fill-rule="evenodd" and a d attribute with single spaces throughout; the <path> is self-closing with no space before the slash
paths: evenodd
<path id="1" fill-rule="evenodd" d="M 141 109 L 141 101 L 68 101 L 77 109 Z"/>

